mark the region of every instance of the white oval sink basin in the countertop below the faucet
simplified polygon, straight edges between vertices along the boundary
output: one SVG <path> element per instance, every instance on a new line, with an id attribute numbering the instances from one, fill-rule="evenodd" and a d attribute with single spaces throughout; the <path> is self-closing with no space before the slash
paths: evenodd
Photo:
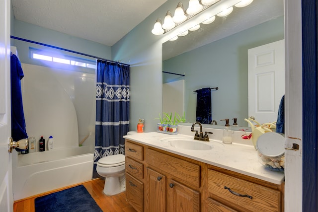
<path id="1" fill-rule="evenodd" d="M 206 141 L 195 141 L 191 139 L 168 139 L 170 146 L 180 149 L 190 149 L 190 150 L 210 150 L 212 145 Z"/>

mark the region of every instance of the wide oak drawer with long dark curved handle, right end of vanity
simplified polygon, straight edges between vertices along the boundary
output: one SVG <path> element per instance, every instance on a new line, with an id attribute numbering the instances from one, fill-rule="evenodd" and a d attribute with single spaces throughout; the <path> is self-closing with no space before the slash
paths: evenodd
<path id="1" fill-rule="evenodd" d="M 237 196 L 226 188 L 251 198 Z M 212 169 L 208 170 L 208 191 L 209 197 L 238 211 L 280 212 L 281 193 L 279 191 Z"/>

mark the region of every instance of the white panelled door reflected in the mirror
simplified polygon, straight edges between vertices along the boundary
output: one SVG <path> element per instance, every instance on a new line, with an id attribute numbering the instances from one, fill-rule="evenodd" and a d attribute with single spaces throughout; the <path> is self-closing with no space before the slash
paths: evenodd
<path id="1" fill-rule="evenodd" d="M 259 123 L 277 120 L 285 94 L 284 40 L 248 50 L 248 117 Z"/>

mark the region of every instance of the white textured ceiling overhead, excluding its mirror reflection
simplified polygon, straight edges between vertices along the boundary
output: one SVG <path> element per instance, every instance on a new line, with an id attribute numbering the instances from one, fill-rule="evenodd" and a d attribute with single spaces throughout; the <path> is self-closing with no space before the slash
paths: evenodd
<path id="1" fill-rule="evenodd" d="M 12 0 L 17 20 L 113 46 L 166 0 Z"/>

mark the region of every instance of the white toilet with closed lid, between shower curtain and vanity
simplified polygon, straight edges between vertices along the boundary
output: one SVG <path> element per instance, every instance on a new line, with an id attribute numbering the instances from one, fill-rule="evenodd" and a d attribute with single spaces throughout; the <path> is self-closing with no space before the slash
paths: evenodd
<path id="1" fill-rule="evenodd" d="M 104 194 L 111 196 L 126 190 L 125 155 L 115 154 L 100 158 L 96 171 L 105 177 Z"/>

